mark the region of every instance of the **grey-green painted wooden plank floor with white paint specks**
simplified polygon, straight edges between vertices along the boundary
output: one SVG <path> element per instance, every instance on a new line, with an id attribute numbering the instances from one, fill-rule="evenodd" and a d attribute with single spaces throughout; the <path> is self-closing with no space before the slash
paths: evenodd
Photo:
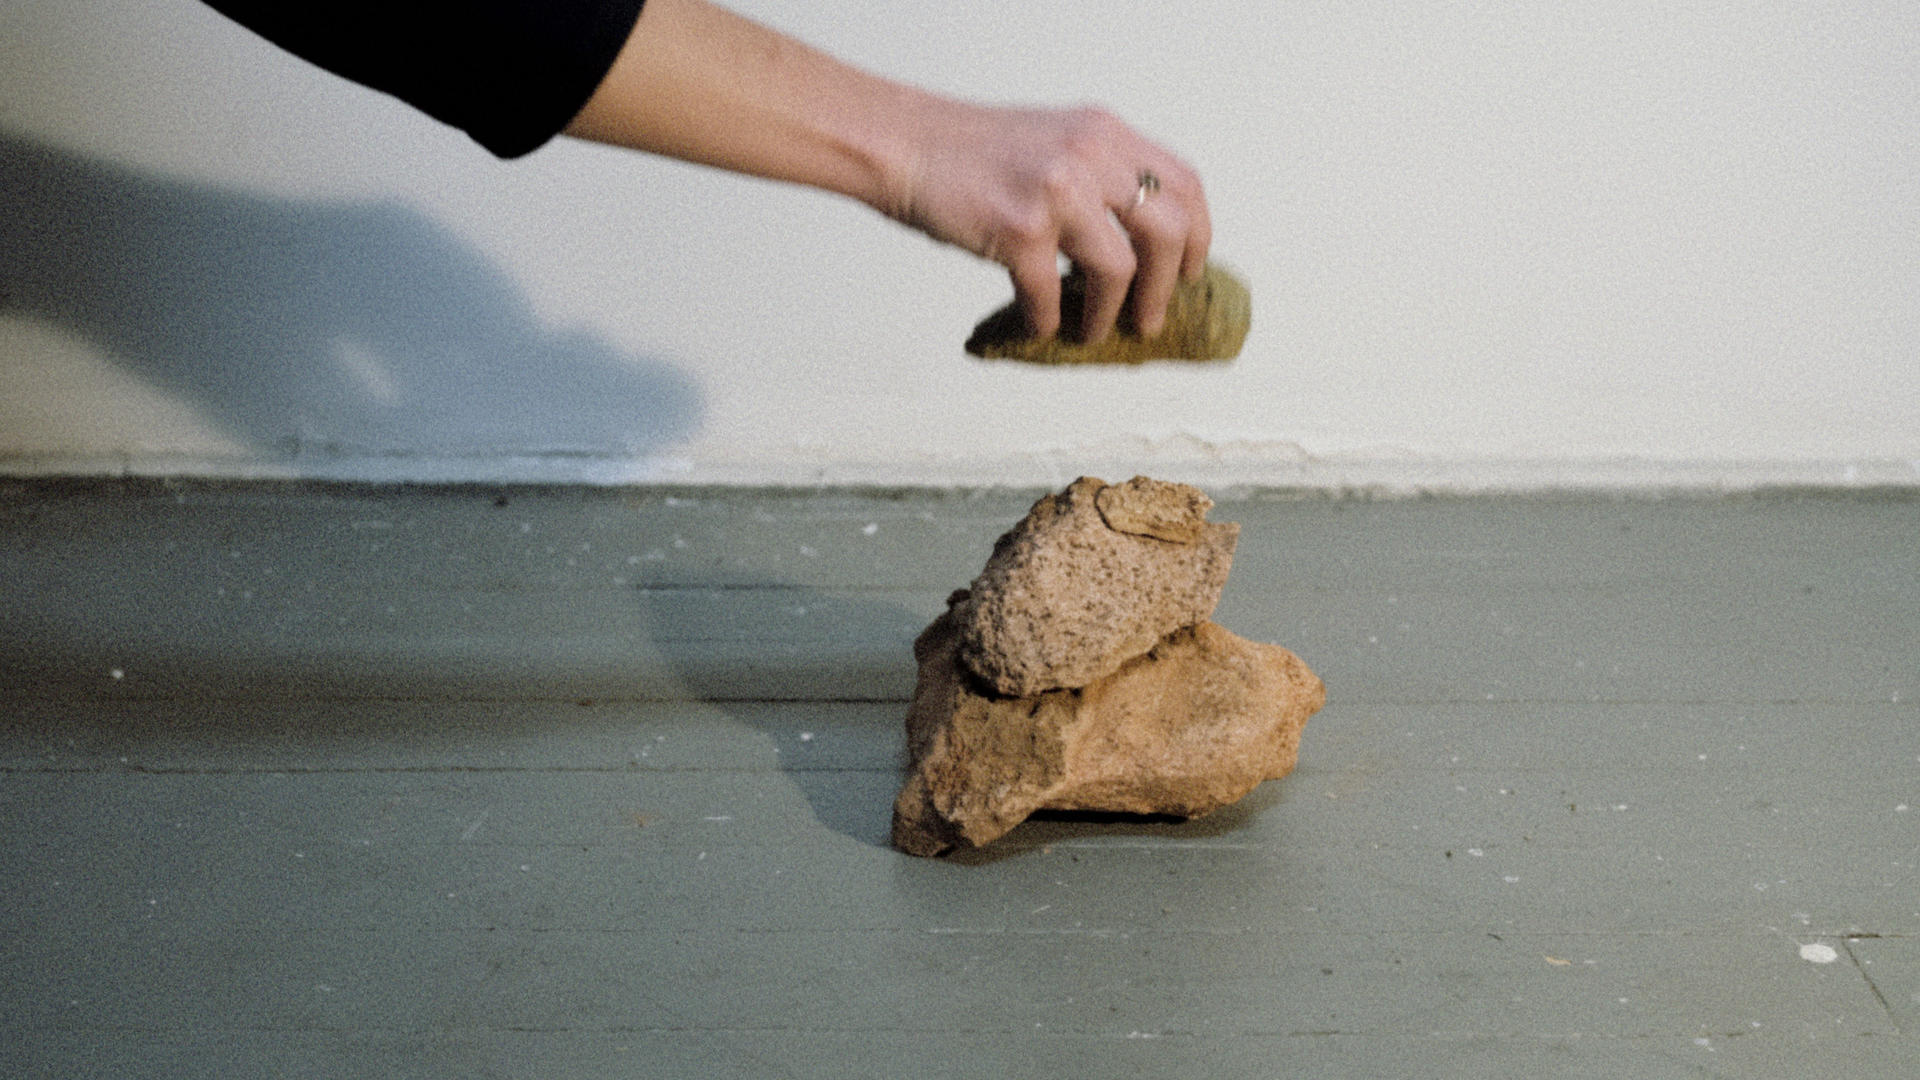
<path id="1" fill-rule="evenodd" d="M 0 1074 L 1920 1076 L 1914 494 L 1225 502 L 1300 769 L 899 855 L 1029 500 L 0 486 Z"/>

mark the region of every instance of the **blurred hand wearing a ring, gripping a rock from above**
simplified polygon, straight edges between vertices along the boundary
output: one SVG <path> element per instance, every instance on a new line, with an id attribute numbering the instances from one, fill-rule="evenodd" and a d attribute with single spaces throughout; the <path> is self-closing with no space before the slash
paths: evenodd
<path id="1" fill-rule="evenodd" d="M 1058 254 L 1087 273 L 1085 321 L 1069 332 L 1098 342 L 1123 306 L 1135 331 L 1160 332 L 1213 236 L 1200 177 L 1098 108 L 935 100 L 889 188 L 889 215 L 1006 265 L 1043 338 L 1062 329 Z"/>

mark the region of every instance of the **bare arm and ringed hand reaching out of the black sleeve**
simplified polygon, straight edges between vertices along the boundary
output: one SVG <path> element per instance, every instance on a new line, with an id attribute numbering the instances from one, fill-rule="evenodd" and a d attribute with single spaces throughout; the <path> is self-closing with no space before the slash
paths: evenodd
<path id="1" fill-rule="evenodd" d="M 945 98 L 707 0 L 647 0 L 566 133 L 856 198 L 1006 265 L 1039 336 L 1060 329 L 1056 254 L 1089 277 L 1073 331 L 1100 340 L 1123 304 L 1158 332 L 1212 240 L 1198 175 L 1104 110 Z"/>

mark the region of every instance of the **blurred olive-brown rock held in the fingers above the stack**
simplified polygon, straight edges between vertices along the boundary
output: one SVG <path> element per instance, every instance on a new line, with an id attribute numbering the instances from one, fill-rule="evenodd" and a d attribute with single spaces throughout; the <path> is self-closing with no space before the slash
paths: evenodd
<path id="1" fill-rule="evenodd" d="M 1079 269 L 1060 279 L 1060 325 L 1079 327 L 1087 307 L 1087 275 Z M 1104 340 L 1081 342 L 1066 334 L 1037 338 L 1018 304 L 995 311 L 973 327 L 966 350 L 987 359 L 1027 363 L 1146 363 L 1148 359 L 1233 359 L 1246 344 L 1254 321 L 1252 294 L 1225 267 L 1181 281 L 1167 302 L 1167 321 L 1154 336 L 1119 327 Z"/>

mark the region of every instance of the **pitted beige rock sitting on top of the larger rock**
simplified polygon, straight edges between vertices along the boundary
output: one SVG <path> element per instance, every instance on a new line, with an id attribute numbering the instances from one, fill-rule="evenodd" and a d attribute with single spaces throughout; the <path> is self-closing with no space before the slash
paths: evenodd
<path id="1" fill-rule="evenodd" d="M 1208 523 L 1210 505 L 1185 484 L 1092 477 L 1033 503 L 954 609 L 960 659 L 1027 698 L 1087 686 L 1212 617 L 1240 527 Z"/>

